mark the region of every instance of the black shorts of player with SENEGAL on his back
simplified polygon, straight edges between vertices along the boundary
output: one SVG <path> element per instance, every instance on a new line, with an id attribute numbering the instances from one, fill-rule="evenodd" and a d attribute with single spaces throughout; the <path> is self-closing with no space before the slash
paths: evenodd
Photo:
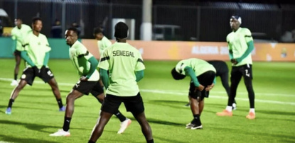
<path id="1" fill-rule="evenodd" d="M 144 112 L 144 102 L 138 93 L 136 96 L 113 96 L 107 94 L 102 103 L 101 110 L 107 113 L 115 114 L 118 112 L 119 106 L 124 103 L 126 110 L 133 115 L 138 115 Z"/>

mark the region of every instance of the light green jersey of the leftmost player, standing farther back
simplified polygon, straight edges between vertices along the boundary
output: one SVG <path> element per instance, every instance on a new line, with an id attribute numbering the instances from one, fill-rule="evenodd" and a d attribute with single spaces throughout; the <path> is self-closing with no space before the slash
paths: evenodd
<path id="1" fill-rule="evenodd" d="M 18 29 L 18 27 L 16 26 L 11 30 L 11 38 L 13 40 L 16 40 L 16 47 L 13 47 L 14 50 L 15 49 L 18 51 L 23 50 L 23 46 L 22 46 L 23 40 L 31 32 L 32 32 L 31 27 L 26 24 L 22 24 L 21 29 Z"/>

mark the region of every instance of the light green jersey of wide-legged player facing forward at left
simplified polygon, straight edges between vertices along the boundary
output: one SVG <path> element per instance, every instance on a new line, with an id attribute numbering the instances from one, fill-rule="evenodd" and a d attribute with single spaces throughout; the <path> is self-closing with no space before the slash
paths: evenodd
<path id="1" fill-rule="evenodd" d="M 32 62 L 41 69 L 43 66 L 44 58 L 46 52 L 49 52 L 51 48 L 49 47 L 48 40 L 45 35 L 39 33 L 38 36 L 33 33 L 29 33 L 25 40 L 23 40 L 23 50 L 28 53 L 28 57 Z M 27 67 L 31 67 L 26 63 Z"/>

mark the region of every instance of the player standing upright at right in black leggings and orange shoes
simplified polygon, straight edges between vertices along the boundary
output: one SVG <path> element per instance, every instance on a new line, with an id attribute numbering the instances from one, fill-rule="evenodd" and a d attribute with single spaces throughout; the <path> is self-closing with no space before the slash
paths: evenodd
<path id="1" fill-rule="evenodd" d="M 232 71 L 230 76 L 230 96 L 228 98 L 227 107 L 220 113 L 219 116 L 232 116 L 232 103 L 235 100 L 237 86 L 242 77 L 244 78 L 245 86 L 248 91 L 250 101 L 250 111 L 246 116 L 248 119 L 255 118 L 254 110 L 254 91 L 252 87 L 252 56 L 251 52 L 254 49 L 254 42 L 251 31 L 248 28 L 241 28 L 242 18 L 240 16 L 232 16 L 230 18 L 230 27 L 232 33 L 227 35 L 227 43 L 232 62 Z"/>

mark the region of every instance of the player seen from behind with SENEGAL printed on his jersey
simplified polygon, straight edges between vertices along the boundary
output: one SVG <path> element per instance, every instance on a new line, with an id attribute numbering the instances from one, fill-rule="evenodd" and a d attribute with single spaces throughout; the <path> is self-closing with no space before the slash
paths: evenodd
<path id="1" fill-rule="evenodd" d="M 93 143 L 100 138 L 104 126 L 107 125 L 112 114 L 116 113 L 121 103 L 124 103 L 127 111 L 130 111 L 139 122 L 146 142 L 154 142 L 137 85 L 137 82 L 144 77 L 143 59 L 140 52 L 127 43 L 128 26 L 119 22 L 115 25 L 114 30 L 117 42 L 103 52 L 99 64 L 102 81 L 107 88 L 107 96 L 104 98 L 100 118 L 88 142 Z M 111 76 L 108 76 L 107 70 Z"/>

